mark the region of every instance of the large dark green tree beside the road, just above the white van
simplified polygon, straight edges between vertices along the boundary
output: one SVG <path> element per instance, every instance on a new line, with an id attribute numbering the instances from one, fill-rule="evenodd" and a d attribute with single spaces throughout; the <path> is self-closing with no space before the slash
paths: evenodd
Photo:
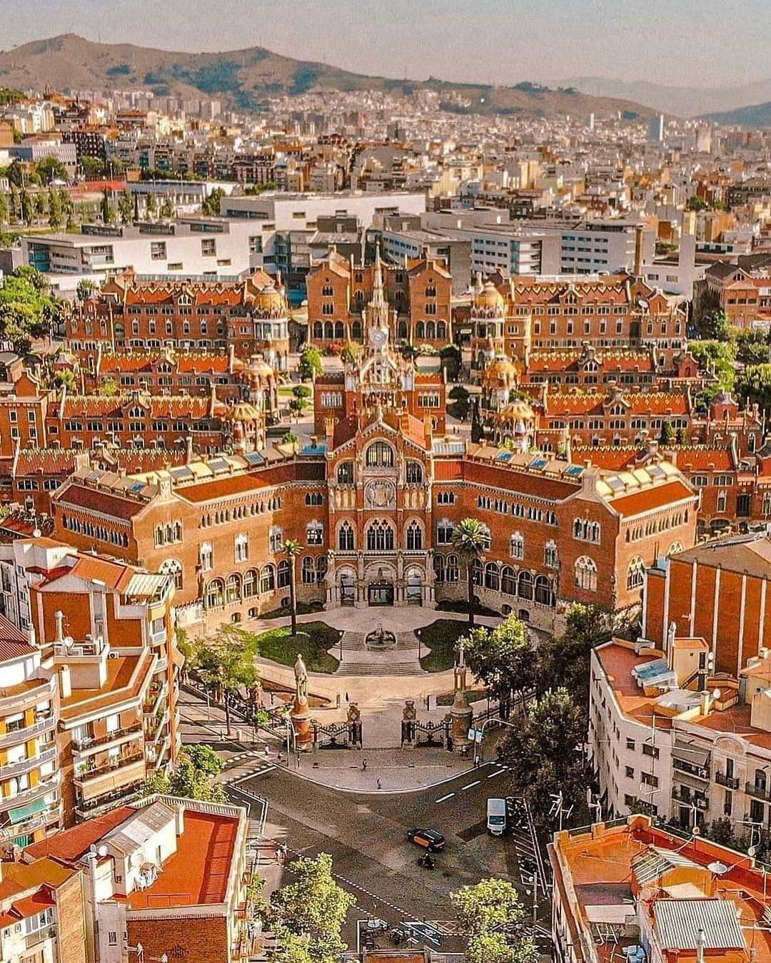
<path id="1" fill-rule="evenodd" d="M 551 794 L 562 793 L 563 804 L 574 806 L 586 793 L 585 739 L 585 713 L 567 689 L 546 691 L 514 716 L 500 759 L 510 769 L 513 793 L 526 798 L 537 821 L 547 821 Z"/>

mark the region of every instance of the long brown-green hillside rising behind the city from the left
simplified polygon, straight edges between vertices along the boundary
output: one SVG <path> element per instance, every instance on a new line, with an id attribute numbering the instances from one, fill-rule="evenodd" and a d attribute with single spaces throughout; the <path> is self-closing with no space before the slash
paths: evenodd
<path id="1" fill-rule="evenodd" d="M 159 94 L 220 96 L 249 110 L 269 94 L 311 90 L 380 90 L 410 94 L 435 90 L 443 109 L 456 113 L 521 117 L 565 115 L 650 117 L 651 110 L 624 99 L 589 96 L 574 90 L 552 91 L 533 84 L 488 87 L 369 77 L 311 61 L 281 57 L 264 47 L 224 53 L 173 53 L 129 43 L 95 43 L 65 34 L 0 52 L 0 87 L 40 91 L 152 90 Z M 460 103 L 458 102 L 460 98 Z"/>

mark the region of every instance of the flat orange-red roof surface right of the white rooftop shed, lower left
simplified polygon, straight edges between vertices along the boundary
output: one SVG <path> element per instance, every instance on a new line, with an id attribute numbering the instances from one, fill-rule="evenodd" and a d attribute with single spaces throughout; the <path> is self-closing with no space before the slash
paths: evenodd
<path id="1" fill-rule="evenodd" d="M 221 903 L 233 866 L 238 820 L 185 810 L 185 831 L 155 882 L 128 898 L 132 910 Z"/>

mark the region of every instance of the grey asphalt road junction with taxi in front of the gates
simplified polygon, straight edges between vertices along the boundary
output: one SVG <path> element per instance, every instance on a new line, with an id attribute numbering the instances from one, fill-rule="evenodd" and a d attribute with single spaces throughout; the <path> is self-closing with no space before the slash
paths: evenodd
<path id="1" fill-rule="evenodd" d="M 439 923 L 451 931 L 449 895 L 489 876 L 511 880 L 531 912 L 534 852 L 529 833 L 513 829 L 503 839 L 488 835 L 487 799 L 506 794 L 506 771 L 486 764 L 439 787 L 409 794 L 340 793 L 298 779 L 283 768 L 254 760 L 263 771 L 228 788 L 233 801 L 258 794 L 268 800 L 266 836 L 287 846 L 289 857 L 332 855 L 337 881 L 357 897 L 349 945 L 356 945 L 356 919 L 374 916 L 388 924 L 404 920 Z M 256 812 L 253 814 L 258 815 Z M 417 865 L 422 850 L 407 840 L 410 826 L 438 829 L 446 839 L 437 868 Z M 539 890 L 541 929 L 547 928 L 548 898 Z M 420 940 L 434 946 L 430 940 Z M 441 949 L 463 950 L 463 940 L 441 937 Z"/>

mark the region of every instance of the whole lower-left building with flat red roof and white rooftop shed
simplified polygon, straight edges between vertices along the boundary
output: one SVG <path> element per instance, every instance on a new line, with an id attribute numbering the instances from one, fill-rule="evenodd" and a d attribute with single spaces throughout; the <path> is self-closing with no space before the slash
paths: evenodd
<path id="1" fill-rule="evenodd" d="M 155 795 L 28 846 L 13 872 L 46 880 L 56 867 L 82 885 L 69 920 L 79 955 L 54 957 L 66 963 L 246 963 L 263 942 L 249 925 L 247 833 L 240 807 Z"/>

